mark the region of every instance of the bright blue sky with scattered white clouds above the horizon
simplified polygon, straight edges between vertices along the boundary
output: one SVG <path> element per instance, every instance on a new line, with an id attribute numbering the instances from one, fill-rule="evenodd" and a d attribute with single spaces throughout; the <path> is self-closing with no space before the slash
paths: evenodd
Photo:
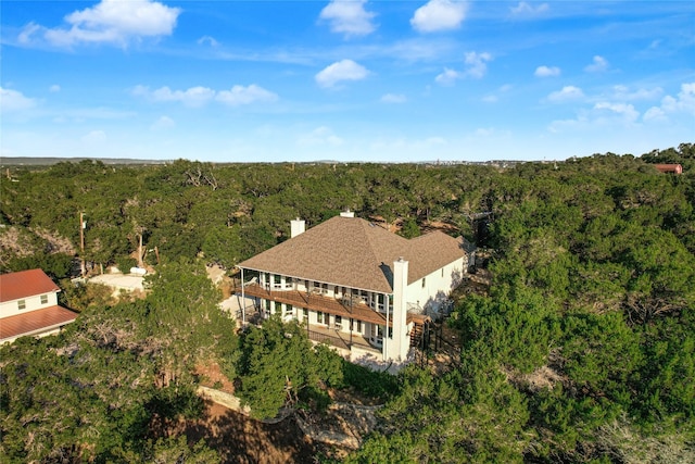
<path id="1" fill-rule="evenodd" d="M 0 9 L 2 156 L 563 160 L 695 141 L 692 1 Z"/>

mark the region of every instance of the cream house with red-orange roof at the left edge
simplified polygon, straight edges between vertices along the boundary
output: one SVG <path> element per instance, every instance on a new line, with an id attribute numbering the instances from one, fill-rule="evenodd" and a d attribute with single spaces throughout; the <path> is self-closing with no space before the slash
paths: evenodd
<path id="1" fill-rule="evenodd" d="M 0 275 L 0 343 L 60 331 L 77 314 L 58 304 L 61 291 L 41 269 Z"/>

